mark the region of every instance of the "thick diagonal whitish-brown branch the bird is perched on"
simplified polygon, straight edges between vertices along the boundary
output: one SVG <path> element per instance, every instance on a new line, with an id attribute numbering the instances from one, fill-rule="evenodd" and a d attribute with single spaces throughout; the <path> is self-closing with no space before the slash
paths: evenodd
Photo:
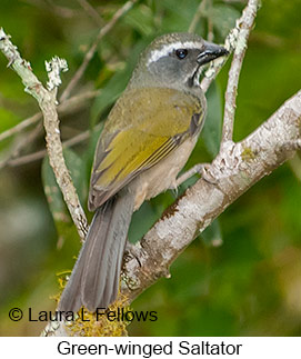
<path id="1" fill-rule="evenodd" d="M 300 139 L 301 91 L 243 141 L 228 142 L 208 172 L 212 182 L 200 179 L 189 188 L 129 250 L 124 265 L 128 288 L 123 288 L 129 299 L 159 277 L 168 277 L 169 267 L 185 247 L 238 197 L 291 158 Z"/>

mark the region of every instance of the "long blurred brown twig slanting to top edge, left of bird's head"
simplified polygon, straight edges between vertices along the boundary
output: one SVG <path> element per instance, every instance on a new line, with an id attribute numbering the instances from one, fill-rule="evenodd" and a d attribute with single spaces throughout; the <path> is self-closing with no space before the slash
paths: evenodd
<path id="1" fill-rule="evenodd" d="M 74 73 L 73 78 L 71 79 L 71 81 L 68 83 L 67 88 L 64 89 L 60 101 L 64 101 L 66 99 L 69 98 L 71 91 L 73 90 L 73 88 L 78 84 L 79 80 L 81 79 L 82 74 L 84 73 L 89 62 L 91 61 L 97 47 L 99 44 L 99 41 L 104 37 L 104 34 L 107 34 L 112 28 L 113 26 L 117 23 L 117 21 L 126 13 L 128 12 L 132 6 L 137 2 L 138 0 L 131 0 L 128 1 L 123 4 L 122 8 L 120 8 L 112 17 L 112 19 L 99 31 L 98 37 L 96 38 L 94 42 L 92 43 L 91 48 L 89 49 L 89 51 L 86 53 L 86 57 L 81 63 L 81 66 L 79 67 L 79 69 L 77 70 L 77 72 Z"/>

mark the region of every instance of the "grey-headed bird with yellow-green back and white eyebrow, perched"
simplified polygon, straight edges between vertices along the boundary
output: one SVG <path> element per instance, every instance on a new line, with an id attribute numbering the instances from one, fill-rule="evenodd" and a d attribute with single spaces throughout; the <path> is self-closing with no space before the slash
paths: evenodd
<path id="1" fill-rule="evenodd" d="M 140 56 L 98 141 L 89 192 L 96 213 L 59 310 L 94 311 L 117 298 L 132 213 L 174 188 L 205 117 L 202 66 L 227 53 L 197 34 L 168 33 Z"/>

